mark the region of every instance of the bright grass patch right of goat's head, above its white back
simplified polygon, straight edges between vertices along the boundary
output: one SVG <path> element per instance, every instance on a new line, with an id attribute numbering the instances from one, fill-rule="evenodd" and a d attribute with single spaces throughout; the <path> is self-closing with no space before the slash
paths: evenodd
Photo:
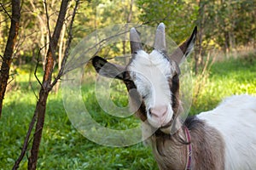
<path id="1" fill-rule="evenodd" d="M 230 95 L 256 94 L 256 54 L 216 62 L 208 74 L 191 114 L 212 110 Z"/>

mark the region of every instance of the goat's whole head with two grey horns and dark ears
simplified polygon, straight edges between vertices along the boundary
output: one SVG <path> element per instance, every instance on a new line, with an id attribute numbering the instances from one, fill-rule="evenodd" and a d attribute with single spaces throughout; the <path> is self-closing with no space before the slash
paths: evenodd
<path id="1" fill-rule="evenodd" d="M 132 58 L 129 65 L 113 65 L 97 56 L 92 63 L 100 75 L 122 80 L 128 91 L 136 89 L 136 93 L 130 93 L 131 103 L 139 108 L 137 115 L 142 121 L 148 120 L 155 128 L 171 127 L 179 107 L 178 65 L 192 50 L 195 36 L 196 27 L 189 39 L 168 56 L 165 25 L 161 23 L 157 27 L 154 50 L 148 54 L 143 50 L 137 31 L 131 28 Z"/>

